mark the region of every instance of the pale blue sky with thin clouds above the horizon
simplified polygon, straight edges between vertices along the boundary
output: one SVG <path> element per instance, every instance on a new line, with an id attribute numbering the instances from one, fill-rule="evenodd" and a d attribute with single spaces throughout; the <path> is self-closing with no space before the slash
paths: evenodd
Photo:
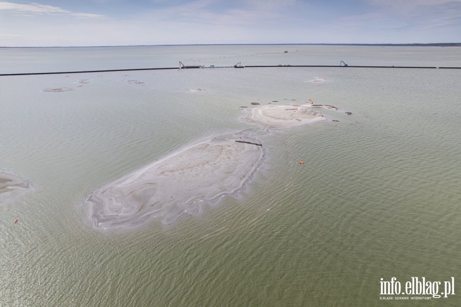
<path id="1" fill-rule="evenodd" d="M 1 47 L 461 42 L 461 1 L 0 1 Z"/>

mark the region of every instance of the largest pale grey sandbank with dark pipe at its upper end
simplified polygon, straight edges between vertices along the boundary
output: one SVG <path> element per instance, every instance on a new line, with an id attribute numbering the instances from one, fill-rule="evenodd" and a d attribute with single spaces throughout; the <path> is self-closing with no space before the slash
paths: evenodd
<path id="1" fill-rule="evenodd" d="M 237 195 L 261 165 L 264 149 L 228 133 L 196 142 L 93 191 L 82 203 L 96 229 L 133 228 L 161 218 L 170 224 Z"/>

